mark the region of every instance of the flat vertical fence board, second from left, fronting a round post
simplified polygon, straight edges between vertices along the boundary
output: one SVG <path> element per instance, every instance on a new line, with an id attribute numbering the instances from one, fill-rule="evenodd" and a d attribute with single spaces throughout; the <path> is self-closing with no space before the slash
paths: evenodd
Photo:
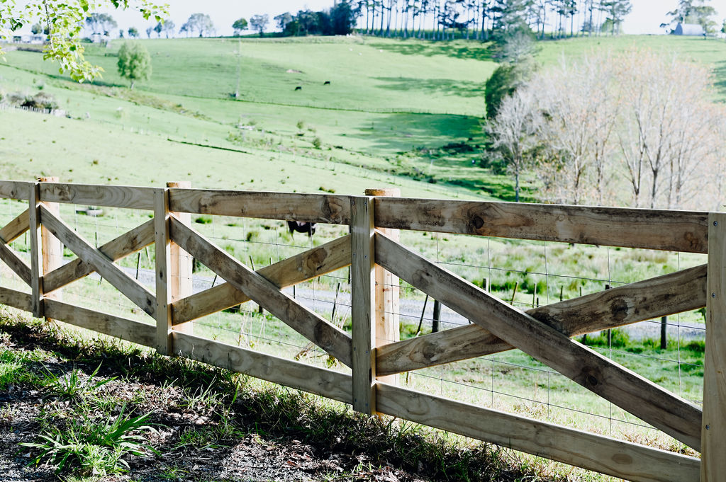
<path id="1" fill-rule="evenodd" d="M 171 241 L 169 241 L 169 190 L 154 190 L 154 243 L 156 250 L 156 350 L 171 354 Z"/>

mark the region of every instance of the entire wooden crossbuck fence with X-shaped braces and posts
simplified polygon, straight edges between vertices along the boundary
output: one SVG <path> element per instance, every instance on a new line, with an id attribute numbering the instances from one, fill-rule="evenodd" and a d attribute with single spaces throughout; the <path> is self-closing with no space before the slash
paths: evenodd
<path id="1" fill-rule="evenodd" d="M 726 475 L 726 214 L 648 209 L 366 196 L 88 186 L 53 178 L 0 181 L 0 197 L 28 209 L 0 229 L 0 259 L 31 293 L 0 288 L 0 302 L 464 436 L 632 481 L 717 482 Z M 153 219 L 94 247 L 60 217 L 58 204 L 147 209 Z M 349 225 L 348 236 L 253 270 L 193 229 L 189 214 Z M 30 230 L 30 265 L 8 244 Z M 523 311 L 450 273 L 398 241 L 399 230 L 707 253 L 707 265 Z M 155 245 L 155 291 L 115 261 Z M 51 252 L 65 246 L 65 265 Z M 225 283 L 192 294 L 190 258 Z M 352 334 L 281 291 L 351 269 Z M 61 288 L 97 272 L 155 323 L 62 302 Z M 473 322 L 398 340 L 397 278 Z M 388 288 L 386 288 L 388 287 Z M 223 344 L 189 323 L 253 300 L 351 368 L 338 373 Z M 706 307 L 703 410 L 571 337 Z M 701 459 L 544 423 L 396 385 L 396 374 L 517 348 L 701 452 Z"/>

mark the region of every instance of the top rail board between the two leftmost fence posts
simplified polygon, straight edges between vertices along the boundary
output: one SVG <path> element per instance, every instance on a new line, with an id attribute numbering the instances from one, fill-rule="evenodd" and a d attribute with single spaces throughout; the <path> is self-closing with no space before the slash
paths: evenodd
<path id="1" fill-rule="evenodd" d="M 86 206 L 154 209 L 154 188 L 41 183 L 41 201 Z"/>

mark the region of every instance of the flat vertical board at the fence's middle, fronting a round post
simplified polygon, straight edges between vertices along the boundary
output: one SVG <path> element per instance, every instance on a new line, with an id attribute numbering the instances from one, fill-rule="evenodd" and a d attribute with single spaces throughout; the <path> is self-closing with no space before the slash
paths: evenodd
<path id="1" fill-rule="evenodd" d="M 351 368 L 353 410 L 375 412 L 375 252 L 373 198 L 351 196 Z"/>

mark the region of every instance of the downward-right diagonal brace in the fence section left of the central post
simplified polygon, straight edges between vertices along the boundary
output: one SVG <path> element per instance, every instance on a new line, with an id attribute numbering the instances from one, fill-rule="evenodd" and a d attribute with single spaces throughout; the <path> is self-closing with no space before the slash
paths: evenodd
<path id="1" fill-rule="evenodd" d="M 257 304 L 278 317 L 302 336 L 333 355 L 344 365 L 351 366 L 351 338 L 340 328 L 328 323 L 317 313 L 295 302 L 277 286 L 242 265 L 208 241 L 197 231 L 171 217 L 171 239 L 186 252 L 199 259 L 229 284 L 247 294 Z"/>

